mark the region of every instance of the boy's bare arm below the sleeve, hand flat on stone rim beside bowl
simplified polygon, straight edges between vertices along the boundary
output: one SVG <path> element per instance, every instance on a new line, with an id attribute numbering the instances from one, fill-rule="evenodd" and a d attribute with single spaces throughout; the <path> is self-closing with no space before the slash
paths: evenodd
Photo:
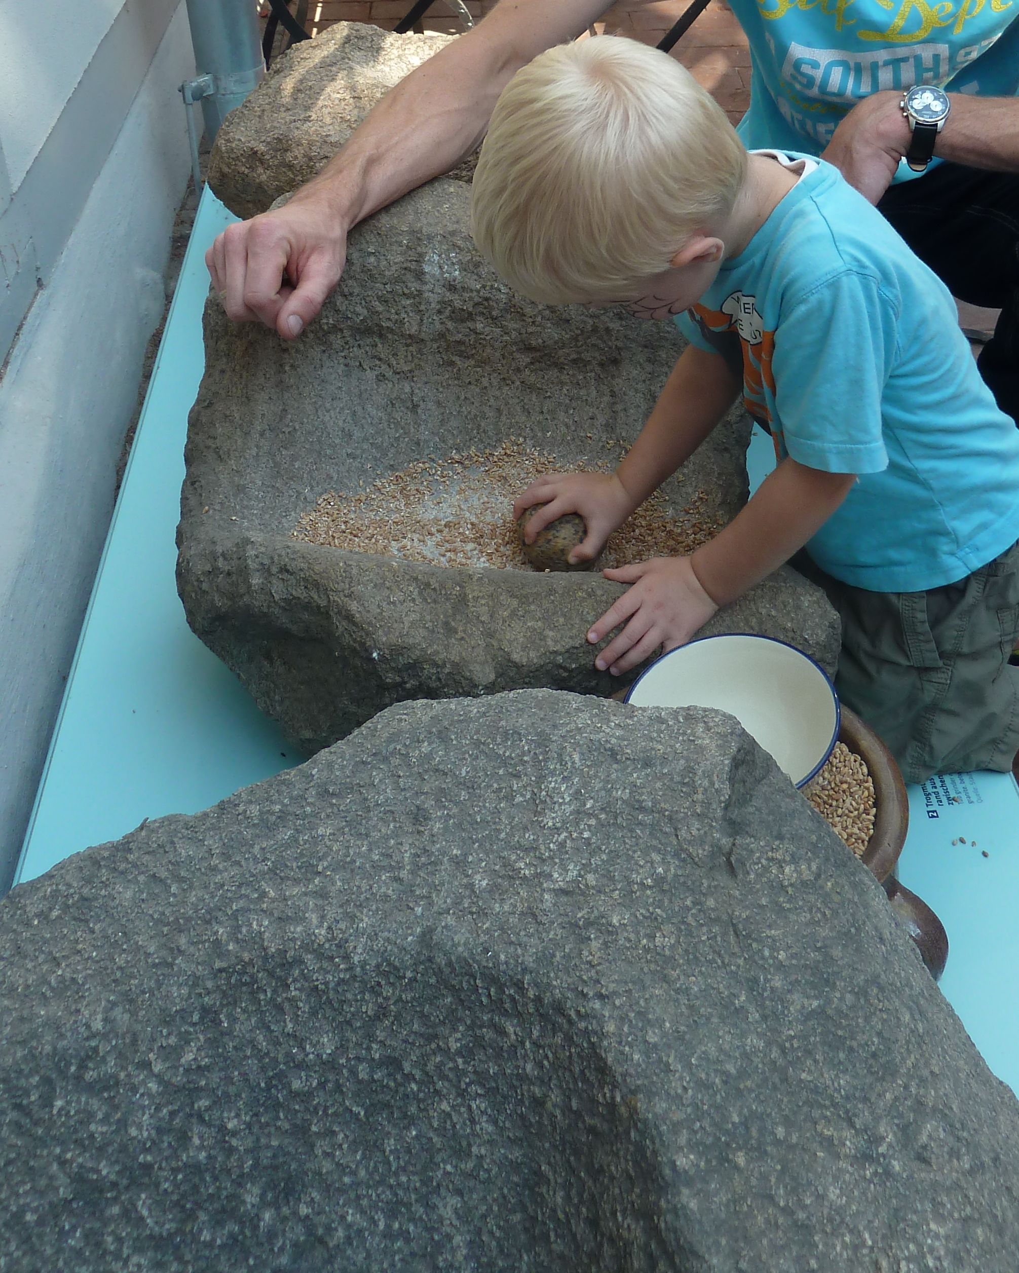
<path id="1" fill-rule="evenodd" d="M 715 611 L 787 561 L 827 522 L 856 481 L 784 460 L 745 508 L 688 558 L 655 558 L 606 570 L 632 587 L 588 633 L 597 644 L 626 622 L 595 659 L 613 676 L 636 667 L 659 645 L 683 645 Z"/>

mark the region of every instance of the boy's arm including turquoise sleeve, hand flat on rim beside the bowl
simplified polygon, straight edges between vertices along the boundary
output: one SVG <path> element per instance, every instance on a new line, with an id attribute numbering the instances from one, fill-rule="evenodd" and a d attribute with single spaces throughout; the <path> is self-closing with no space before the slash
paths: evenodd
<path id="1" fill-rule="evenodd" d="M 634 587 L 588 634 L 598 642 L 628 619 L 595 659 L 598 667 L 625 672 L 660 644 L 668 651 L 690 640 L 719 606 L 781 565 L 814 535 L 849 494 L 854 475 L 887 467 L 882 405 L 898 360 L 902 300 L 897 278 L 840 264 L 835 272 L 800 286 L 800 298 L 790 298 L 784 307 L 771 362 L 789 458 L 733 523 L 691 558 L 656 558 L 606 572 L 609 579 Z M 930 297 L 934 303 L 935 294 Z M 946 308 L 948 294 L 939 293 L 936 303 Z M 934 317 L 936 322 L 941 316 Z M 945 354 L 955 356 L 962 336 L 953 355 L 954 314 L 945 321 Z M 969 367 L 966 351 L 963 356 Z"/>

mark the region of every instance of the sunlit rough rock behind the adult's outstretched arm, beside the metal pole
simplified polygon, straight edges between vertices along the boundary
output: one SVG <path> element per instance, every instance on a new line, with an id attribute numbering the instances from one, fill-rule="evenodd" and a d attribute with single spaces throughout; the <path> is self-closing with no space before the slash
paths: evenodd
<path id="1" fill-rule="evenodd" d="M 391 88 L 455 38 L 337 22 L 294 45 L 224 121 L 209 185 L 238 216 L 263 213 L 321 172 Z M 475 163 L 472 157 L 450 176 L 469 181 Z"/>

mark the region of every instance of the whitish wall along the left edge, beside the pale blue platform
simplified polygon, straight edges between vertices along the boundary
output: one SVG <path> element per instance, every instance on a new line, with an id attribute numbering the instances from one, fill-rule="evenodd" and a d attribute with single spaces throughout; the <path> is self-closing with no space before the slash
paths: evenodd
<path id="1" fill-rule="evenodd" d="M 9 882 L 31 812 L 109 523 L 116 461 L 145 345 L 163 309 L 169 234 L 190 171 L 177 89 L 195 73 L 187 15 L 177 0 L 169 8 L 167 0 L 61 0 L 43 11 L 0 0 L 0 29 L 22 10 L 34 10 L 34 33 L 19 27 L 18 47 L 24 51 L 34 41 L 36 70 L 48 67 L 56 85 L 59 66 L 61 78 L 45 97 L 46 109 L 17 136 L 0 106 L 8 211 L 22 214 L 22 225 L 48 253 L 38 271 L 42 286 L 33 286 L 34 302 L 20 320 L 0 378 L 0 889 Z M 75 28 L 76 38 L 98 41 L 84 69 L 88 42 L 74 52 L 64 47 L 52 61 L 46 56 L 43 33 L 48 38 L 51 24 L 59 24 L 57 10 L 67 10 L 69 22 L 74 11 L 92 10 Z M 156 34 L 154 50 L 146 52 L 145 41 Z M 108 74 L 108 59 L 116 60 L 127 87 L 89 83 Z M 89 151 L 94 160 L 102 150 L 103 162 L 55 252 L 60 227 L 43 223 L 47 199 L 60 201 L 66 192 L 57 160 L 69 139 L 109 125 L 109 99 L 126 95 L 139 66 L 144 78 L 122 106 L 118 129 L 109 144 L 99 139 L 98 149 Z M 22 101 L 9 81 L 3 93 Z M 61 113 L 52 121 L 62 95 Z M 84 118 L 66 120 L 89 104 L 94 109 Z M 18 109 L 24 121 L 20 104 Z M 74 162 L 71 167 L 69 187 L 83 178 L 81 168 Z M 19 209 L 27 193 L 33 201 Z M 0 238 L 0 252 L 3 247 Z M 8 300 L 10 280 L 9 270 Z M 0 272 L 0 285 L 4 281 Z"/>

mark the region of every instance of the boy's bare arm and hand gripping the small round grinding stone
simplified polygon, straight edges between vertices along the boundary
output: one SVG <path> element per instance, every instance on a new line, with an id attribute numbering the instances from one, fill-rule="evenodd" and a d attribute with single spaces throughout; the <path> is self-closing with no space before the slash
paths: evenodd
<path id="1" fill-rule="evenodd" d="M 579 513 L 588 533 L 570 558 L 592 561 L 616 527 L 697 449 L 737 388 L 724 359 L 687 346 L 614 474 L 548 474 L 520 495 L 513 505 L 514 517 L 533 504 L 544 504 L 528 523 L 527 541 L 566 513 Z"/>

